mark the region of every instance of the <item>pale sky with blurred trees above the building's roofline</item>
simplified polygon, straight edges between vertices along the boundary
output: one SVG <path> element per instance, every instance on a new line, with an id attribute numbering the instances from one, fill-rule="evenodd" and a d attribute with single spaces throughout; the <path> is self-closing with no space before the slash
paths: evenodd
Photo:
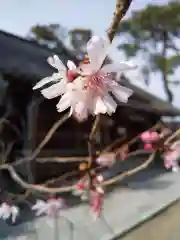
<path id="1" fill-rule="evenodd" d="M 115 2 L 6 0 L 1 3 L 0 29 L 52 49 L 63 44 L 81 58 L 92 34 L 106 34 Z M 132 83 L 178 107 L 179 12 L 179 1 L 134 0 L 109 53 L 111 61 L 137 62 L 140 68 L 131 73 Z"/>

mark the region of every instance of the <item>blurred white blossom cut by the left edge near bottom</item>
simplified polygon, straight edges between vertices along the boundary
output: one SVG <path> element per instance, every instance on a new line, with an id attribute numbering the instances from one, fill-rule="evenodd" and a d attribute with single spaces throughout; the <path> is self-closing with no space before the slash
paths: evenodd
<path id="1" fill-rule="evenodd" d="M 19 208 L 17 206 L 5 202 L 0 205 L 0 218 L 4 220 L 11 218 L 14 223 L 18 215 Z"/>

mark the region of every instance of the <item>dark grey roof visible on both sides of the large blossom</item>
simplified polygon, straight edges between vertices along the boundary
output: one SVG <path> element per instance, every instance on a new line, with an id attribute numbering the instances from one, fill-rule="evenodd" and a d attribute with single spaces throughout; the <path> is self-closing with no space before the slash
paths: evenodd
<path id="1" fill-rule="evenodd" d="M 33 85 L 39 79 L 51 75 L 53 69 L 46 59 L 53 52 L 45 46 L 34 41 L 17 37 L 13 34 L 0 31 L 0 72 L 17 75 L 24 80 L 30 80 Z M 63 62 L 71 59 L 77 62 L 75 56 L 63 45 L 60 52 L 56 53 Z M 134 90 L 135 99 L 142 100 L 144 108 L 151 108 L 153 111 L 167 115 L 180 115 L 180 110 L 173 107 L 167 101 L 163 101 L 154 95 L 131 84 L 125 77 L 122 77 L 123 85 Z M 136 101 L 130 101 L 131 105 L 137 105 Z M 143 105 L 144 104 L 144 105 Z"/>

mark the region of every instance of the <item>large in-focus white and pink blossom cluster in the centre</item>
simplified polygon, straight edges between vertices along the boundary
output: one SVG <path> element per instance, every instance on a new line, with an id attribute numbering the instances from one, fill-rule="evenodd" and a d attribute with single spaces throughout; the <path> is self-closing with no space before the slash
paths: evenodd
<path id="1" fill-rule="evenodd" d="M 57 111 L 70 108 L 70 116 L 73 114 L 79 121 L 86 120 L 90 114 L 111 115 L 116 111 L 118 101 L 126 103 L 133 93 L 121 86 L 113 73 L 135 69 L 136 66 L 128 62 L 103 66 L 109 45 L 108 39 L 93 36 L 87 43 L 88 58 L 79 66 L 68 61 L 66 68 L 58 56 L 49 57 L 48 63 L 58 72 L 42 79 L 33 89 L 40 88 L 47 99 L 61 96 Z M 50 83 L 51 86 L 46 87 Z"/>

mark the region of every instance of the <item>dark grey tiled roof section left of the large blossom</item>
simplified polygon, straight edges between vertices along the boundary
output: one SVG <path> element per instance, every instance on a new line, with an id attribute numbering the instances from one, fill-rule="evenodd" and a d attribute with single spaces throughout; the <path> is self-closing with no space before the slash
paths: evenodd
<path id="1" fill-rule="evenodd" d="M 0 71 L 3 73 L 36 81 L 52 74 L 52 68 L 46 62 L 51 54 L 50 49 L 36 42 L 0 31 Z M 64 62 L 74 58 L 65 47 L 58 55 Z"/>

